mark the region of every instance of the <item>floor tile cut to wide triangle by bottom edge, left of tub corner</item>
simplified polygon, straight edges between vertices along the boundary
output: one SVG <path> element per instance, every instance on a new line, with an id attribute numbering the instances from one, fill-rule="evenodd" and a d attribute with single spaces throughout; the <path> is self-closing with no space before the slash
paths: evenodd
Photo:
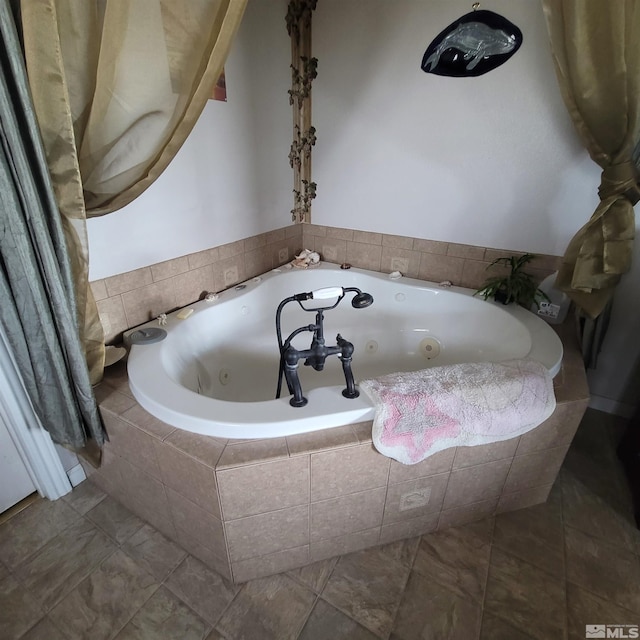
<path id="1" fill-rule="evenodd" d="M 196 615 L 171 591 L 160 587 L 127 623 L 115 640 L 179 638 L 203 640 L 211 625 Z"/>

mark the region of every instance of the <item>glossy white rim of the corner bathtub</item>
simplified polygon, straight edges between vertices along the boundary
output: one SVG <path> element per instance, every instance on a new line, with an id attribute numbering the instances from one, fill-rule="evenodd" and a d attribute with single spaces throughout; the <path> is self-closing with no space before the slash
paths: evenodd
<path id="1" fill-rule="evenodd" d="M 340 272 L 339 266 L 332 263 L 323 262 L 316 268 Z M 356 268 L 352 271 L 373 278 L 389 279 L 388 274 L 376 271 Z M 199 301 L 186 305 L 185 308 L 193 308 L 196 311 L 208 309 L 212 304 L 244 296 L 266 279 L 286 272 L 283 267 L 272 269 L 221 292 L 219 299 L 213 303 Z M 403 277 L 401 283 L 441 290 L 437 283 L 415 278 Z M 447 288 L 468 296 L 473 296 L 474 293 L 473 289 L 463 287 Z M 526 357 L 541 362 L 551 376 L 555 377 L 560 371 L 563 356 L 562 342 L 556 332 L 544 320 L 522 307 L 504 306 L 491 301 L 486 301 L 486 304 L 500 307 L 527 327 L 531 334 L 532 347 Z M 167 314 L 167 324 L 164 328 L 169 333 L 172 327 L 184 322 L 176 318 L 179 311 L 180 309 L 177 309 Z M 125 343 L 133 331 L 151 326 L 157 326 L 157 322 L 150 321 L 126 331 Z M 161 344 L 130 345 L 127 361 L 129 386 L 134 398 L 146 411 L 177 428 L 220 438 L 266 439 L 365 422 L 374 417 L 374 408 L 368 397 L 360 394 L 355 399 L 344 398 L 344 386 L 327 386 L 305 391 L 309 402 L 304 407 L 291 407 L 288 396 L 278 400 L 245 403 L 201 396 L 174 381 L 164 371 L 161 365 L 161 349 L 158 348 Z M 149 371 L 161 371 L 162 375 L 157 375 L 151 382 L 146 375 Z M 171 403 L 161 403 L 159 398 L 171 398 Z"/>

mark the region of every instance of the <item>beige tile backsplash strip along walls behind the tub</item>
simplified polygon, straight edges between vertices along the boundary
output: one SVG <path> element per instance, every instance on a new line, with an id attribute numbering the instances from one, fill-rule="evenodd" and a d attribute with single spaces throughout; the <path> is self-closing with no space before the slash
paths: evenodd
<path id="1" fill-rule="evenodd" d="M 122 332 L 160 313 L 191 304 L 204 292 L 221 291 L 289 262 L 301 249 L 318 251 L 323 260 L 372 271 L 400 271 L 431 282 L 449 280 L 477 289 L 496 258 L 511 255 L 485 247 L 438 242 L 353 229 L 297 224 L 187 256 L 129 271 L 91 288 L 108 344 Z M 559 266 L 557 256 L 540 255 L 528 268 L 542 280 Z M 493 271 L 499 271 L 494 267 Z"/>

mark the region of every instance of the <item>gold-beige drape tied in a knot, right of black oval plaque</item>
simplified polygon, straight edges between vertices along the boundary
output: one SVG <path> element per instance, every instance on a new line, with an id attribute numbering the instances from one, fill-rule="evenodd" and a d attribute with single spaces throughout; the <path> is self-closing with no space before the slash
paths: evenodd
<path id="1" fill-rule="evenodd" d="M 631 264 L 640 200 L 640 0 L 543 0 L 562 95 L 600 204 L 567 247 L 557 284 L 592 318 Z"/>

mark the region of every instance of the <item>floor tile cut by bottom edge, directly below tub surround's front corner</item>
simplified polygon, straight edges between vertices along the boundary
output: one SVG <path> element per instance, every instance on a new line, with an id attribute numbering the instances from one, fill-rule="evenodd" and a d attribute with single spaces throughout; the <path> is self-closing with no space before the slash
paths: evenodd
<path id="1" fill-rule="evenodd" d="M 259 578 L 242 587 L 216 629 L 229 640 L 294 640 L 315 601 L 312 591 L 287 575 Z"/>

